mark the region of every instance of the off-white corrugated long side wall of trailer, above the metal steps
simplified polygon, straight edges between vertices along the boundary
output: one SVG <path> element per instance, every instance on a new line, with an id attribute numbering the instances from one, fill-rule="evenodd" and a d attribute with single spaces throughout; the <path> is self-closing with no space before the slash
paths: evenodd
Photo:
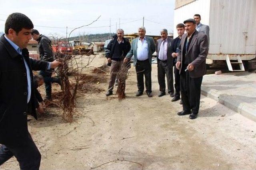
<path id="1" fill-rule="evenodd" d="M 212 0 L 209 26 L 209 53 L 255 54 L 256 0 Z"/>

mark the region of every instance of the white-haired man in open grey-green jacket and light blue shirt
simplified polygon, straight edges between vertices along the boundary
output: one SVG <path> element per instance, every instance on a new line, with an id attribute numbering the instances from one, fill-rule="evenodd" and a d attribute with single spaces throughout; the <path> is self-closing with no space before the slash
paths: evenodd
<path id="1" fill-rule="evenodd" d="M 154 39 L 146 37 L 146 28 L 139 27 L 139 37 L 132 41 L 132 46 L 126 57 L 124 63 L 134 55 L 134 66 L 137 72 L 137 86 L 138 92 L 136 96 L 141 96 L 144 91 L 144 76 L 146 84 L 146 93 L 148 97 L 152 97 L 152 84 L 151 84 L 151 63 L 152 54 L 156 51 Z"/>

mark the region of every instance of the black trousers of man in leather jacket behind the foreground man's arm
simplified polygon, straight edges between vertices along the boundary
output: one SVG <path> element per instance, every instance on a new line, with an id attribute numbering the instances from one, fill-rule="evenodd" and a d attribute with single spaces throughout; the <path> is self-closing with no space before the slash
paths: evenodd
<path id="1" fill-rule="evenodd" d="M 44 77 L 46 98 L 52 98 L 52 83 L 60 83 L 60 78 L 52 77 L 52 70 L 40 71 L 40 75 Z"/>

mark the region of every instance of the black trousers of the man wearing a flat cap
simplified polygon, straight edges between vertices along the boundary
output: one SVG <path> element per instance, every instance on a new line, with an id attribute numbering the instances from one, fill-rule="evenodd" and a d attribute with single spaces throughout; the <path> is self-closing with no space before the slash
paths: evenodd
<path id="1" fill-rule="evenodd" d="M 203 77 L 191 78 L 189 71 L 182 66 L 180 73 L 180 93 L 184 111 L 198 113 L 200 106 L 201 84 Z"/>

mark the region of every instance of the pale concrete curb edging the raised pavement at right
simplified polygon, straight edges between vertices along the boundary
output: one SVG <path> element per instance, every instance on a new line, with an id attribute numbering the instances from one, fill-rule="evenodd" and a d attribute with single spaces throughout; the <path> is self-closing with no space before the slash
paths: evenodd
<path id="1" fill-rule="evenodd" d="M 234 98 L 230 98 L 229 95 L 222 94 L 218 92 L 218 90 L 211 89 L 204 85 L 201 86 L 201 94 L 216 100 L 217 102 L 219 102 L 220 104 L 223 104 L 229 109 L 232 109 L 240 113 L 244 117 L 247 117 L 248 119 L 251 119 L 252 121 L 256 122 L 255 106 L 242 102 L 241 100 L 235 100 Z"/>

